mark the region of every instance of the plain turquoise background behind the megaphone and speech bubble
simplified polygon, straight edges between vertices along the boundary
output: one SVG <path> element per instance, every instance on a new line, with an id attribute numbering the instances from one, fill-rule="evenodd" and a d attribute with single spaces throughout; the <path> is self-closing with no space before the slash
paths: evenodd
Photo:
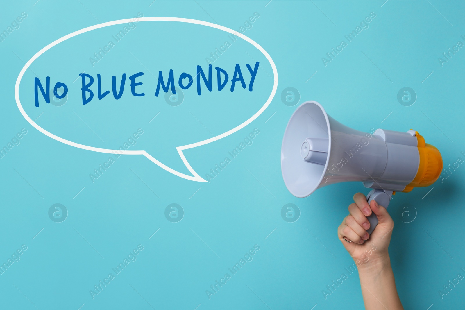
<path id="1" fill-rule="evenodd" d="M 458 158 L 465 160 L 464 48 L 442 66 L 438 60 L 458 41 L 465 43 L 461 38 L 465 4 L 460 1 L 32 0 L 1 6 L 0 31 L 21 12 L 27 13 L 20 28 L 0 42 L 0 147 L 27 129 L 20 144 L 0 159 L 0 262 L 7 262 L 22 244 L 27 246 L 20 260 L 0 275 L 5 309 L 362 309 L 356 273 L 326 299 L 322 290 L 353 264 L 336 230 L 352 195 L 368 190 L 359 183 L 343 183 L 308 198 L 295 198 L 287 191 L 279 163 L 281 140 L 298 106 L 281 100 L 287 87 L 298 90 L 299 104 L 316 100 L 334 119 L 357 130 L 414 128 L 438 147 L 445 168 Z M 258 128 L 252 145 L 209 183 L 176 177 L 143 156 L 130 155 L 118 158 L 92 183 L 89 174 L 106 162 L 108 154 L 43 135 L 16 106 L 16 78 L 41 48 L 73 31 L 132 18 L 138 12 L 145 17 L 205 20 L 238 31 L 254 12 L 260 15 L 244 34 L 271 55 L 278 69 L 278 90 L 250 125 L 185 152 L 195 171 L 205 177 Z M 371 12 L 376 17 L 369 27 L 325 66 L 322 57 Z M 204 58 L 223 44 L 227 33 L 197 25 L 138 23 L 123 39 L 128 40 L 118 43 L 95 69 L 88 58 L 106 45 L 109 33 L 119 29 L 113 27 L 63 42 L 34 62 L 34 72 L 27 71 L 20 98 L 32 119 L 44 112 L 39 125 L 98 147 L 120 146 L 141 127 L 144 134 L 130 150 L 144 146 L 181 170 L 173 146 L 208 139 L 239 125 L 258 111 L 271 92 L 270 65 L 253 46 L 238 41 L 218 63 L 229 71 L 239 63 L 246 78 L 245 63 L 254 64 L 251 58 L 261 57 L 253 92 L 239 88 L 198 96 L 191 88 L 180 106 L 170 106 L 163 97 L 153 96 L 153 85 L 148 85 L 155 78 L 148 71 L 157 75 L 170 67 L 206 68 Z M 119 101 L 110 94 L 100 102 L 94 99 L 88 105 L 95 105 L 86 110 L 79 101 L 80 80 L 69 86 L 84 70 L 95 75 L 100 71 L 102 77 L 143 71 L 146 96 L 134 99 L 126 88 Z M 33 106 L 35 74 L 41 79 L 51 76 L 52 83 L 62 79 L 69 86 L 64 106 L 43 101 L 39 108 Z M 412 106 L 397 100 L 403 87 L 416 92 Z M 389 206 L 396 223 L 390 255 L 405 309 L 452 309 L 465 301 L 463 281 L 443 299 L 439 294 L 449 280 L 465 275 L 464 168 L 457 166 L 431 187 L 399 193 Z M 68 211 L 61 223 L 48 216 L 56 203 Z M 165 217 L 166 206 L 172 203 L 184 210 L 177 223 Z M 293 223 L 281 218 L 288 203 L 296 204 L 301 213 Z M 144 249 L 137 259 L 92 298 L 89 290 L 139 244 Z M 209 299 L 206 290 L 230 273 L 228 268 L 255 244 L 259 251 L 252 261 Z"/>

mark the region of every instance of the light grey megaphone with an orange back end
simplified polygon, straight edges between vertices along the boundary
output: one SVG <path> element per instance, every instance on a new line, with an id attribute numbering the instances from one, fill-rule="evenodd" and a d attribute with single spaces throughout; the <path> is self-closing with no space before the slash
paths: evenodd
<path id="1" fill-rule="evenodd" d="M 304 198 L 334 183 L 359 181 L 387 208 L 396 191 L 432 185 L 442 171 L 441 153 L 412 129 L 373 133 L 347 127 L 329 116 L 316 101 L 307 101 L 292 114 L 281 147 L 281 171 L 292 195 Z M 372 233 L 378 224 L 368 217 Z"/>

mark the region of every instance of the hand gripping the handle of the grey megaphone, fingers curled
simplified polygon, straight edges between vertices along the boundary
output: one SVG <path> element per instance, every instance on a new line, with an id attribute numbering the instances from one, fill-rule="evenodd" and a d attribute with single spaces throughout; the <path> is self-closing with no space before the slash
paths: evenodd
<path id="1" fill-rule="evenodd" d="M 362 193 L 353 196 L 354 203 L 349 205 L 349 215 L 344 218 L 338 228 L 339 240 L 349 252 L 357 266 L 389 263 L 388 246 L 391 241 L 394 222 L 386 211 L 374 200 L 368 204 Z M 367 216 L 376 214 L 378 225 L 368 235 L 366 230 L 370 228 Z M 350 242 L 349 242 L 350 241 Z"/>

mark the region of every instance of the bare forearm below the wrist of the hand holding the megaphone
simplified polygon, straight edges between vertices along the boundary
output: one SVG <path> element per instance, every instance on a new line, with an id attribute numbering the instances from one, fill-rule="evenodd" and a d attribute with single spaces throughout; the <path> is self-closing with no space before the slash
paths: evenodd
<path id="1" fill-rule="evenodd" d="M 397 294 L 389 256 L 384 261 L 370 262 L 359 267 L 365 310 L 403 310 Z"/>

